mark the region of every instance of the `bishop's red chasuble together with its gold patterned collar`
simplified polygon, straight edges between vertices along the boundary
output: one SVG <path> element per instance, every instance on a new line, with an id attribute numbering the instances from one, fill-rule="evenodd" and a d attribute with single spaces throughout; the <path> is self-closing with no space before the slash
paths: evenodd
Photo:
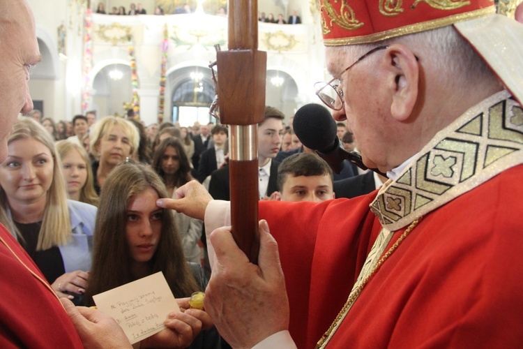
<path id="1" fill-rule="evenodd" d="M 437 133 L 379 192 L 319 205 L 260 202 L 280 248 L 298 348 L 314 348 L 360 272 L 371 274 L 372 255 L 413 226 L 323 344 L 523 346 L 522 115 L 501 91 Z M 374 242 L 383 249 L 367 258 Z"/>

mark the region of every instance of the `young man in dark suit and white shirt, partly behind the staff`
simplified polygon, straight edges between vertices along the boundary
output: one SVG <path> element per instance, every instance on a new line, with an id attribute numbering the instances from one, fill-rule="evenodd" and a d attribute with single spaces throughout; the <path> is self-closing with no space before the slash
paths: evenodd
<path id="1" fill-rule="evenodd" d="M 278 190 L 276 178 L 278 165 L 273 161 L 282 145 L 283 119 L 285 115 L 275 107 L 265 107 L 265 119 L 258 124 L 258 178 L 259 197 L 264 199 Z M 229 167 L 225 166 L 211 174 L 209 193 L 216 200 L 230 200 Z"/>

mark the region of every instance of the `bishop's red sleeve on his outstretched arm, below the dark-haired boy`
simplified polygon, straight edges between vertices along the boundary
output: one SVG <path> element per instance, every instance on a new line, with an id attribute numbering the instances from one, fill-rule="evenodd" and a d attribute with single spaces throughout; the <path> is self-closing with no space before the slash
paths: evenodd
<path id="1" fill-rule="evenodd" d="M 259 202 L 278 242 L 298 348 L 314 348 L 342 308 L 381 226 L 369 205 L 377 192 L 321 202 Z"/>

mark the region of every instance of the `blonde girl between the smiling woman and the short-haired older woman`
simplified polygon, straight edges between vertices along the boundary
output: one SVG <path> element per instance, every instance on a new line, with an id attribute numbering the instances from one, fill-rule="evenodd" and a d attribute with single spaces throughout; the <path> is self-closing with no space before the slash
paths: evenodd
<path id="1" fill-rule="evenodd" d="M 94 190 L 91 161 L 89 161 L 89 155 L 84 147 L 68 140 L 56 142 L 55 147 L 62 161 L 68 197 L 71 200 L 98 206 L 98 194 Z"/>

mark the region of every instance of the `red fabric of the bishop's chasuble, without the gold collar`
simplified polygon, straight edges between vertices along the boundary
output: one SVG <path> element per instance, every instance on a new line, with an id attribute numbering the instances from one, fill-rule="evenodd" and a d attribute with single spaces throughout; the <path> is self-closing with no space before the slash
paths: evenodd
<path id="1" fill-rule="evenodd" d="M 328 348 L 521 347 L 522 178 L 519 165 L 426 214 L 363 288 Z M 369 211 L 375 195 L 260 202 L 278 241 L 298 348 L 314 348 L 349 297 L 381 228 Z"/>

